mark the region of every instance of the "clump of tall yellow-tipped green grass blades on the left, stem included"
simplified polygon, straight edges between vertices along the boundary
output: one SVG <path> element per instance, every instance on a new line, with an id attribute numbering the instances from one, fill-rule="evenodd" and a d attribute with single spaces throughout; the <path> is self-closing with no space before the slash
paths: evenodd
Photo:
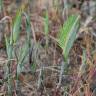
<path id="1" fill-rule="evenodd" d="M 29 53 L 29 47 L 30 47 L 30 32 L 31 32 L 31 25 L 30 25 L 30 19 L 29 16 L 24 13 L 25 11 L 25 5 L 22 5 L 20 9 L 17 11 L 15 19 L 13 19 L 12 23 L 12 30 L 11 30 L 11 35 L 10 37 L 7 37 L 5 34 L 5 42 L 6 42 L 6 51 L 7 51 L 7 56 L 8 56 L 8 62 L 6 64 L 6 76 L 7 76 L 7 81 L 8 81 L 8 96 L 13 96 L 12 95 L 12 90 L 13 90 L 13 84 L 12 84 L 12 70 L 11 66 L 13 64 L 12 60 L 14 59 L 15 55 L 15 50 L 14 47 L 16 46 L 18 39 L 20 37 L 20 27 L 22 24 L 22 15 L 26 17 L 26 39 L 24 46 L 19 50 L 19 54 L 16 57 L 16 80 L 19 79 L 19 75 L 22 72 L 22 68 L 24 66 L 24 60 Z M 18 85 L 18 84 L 17 84 Z"/>

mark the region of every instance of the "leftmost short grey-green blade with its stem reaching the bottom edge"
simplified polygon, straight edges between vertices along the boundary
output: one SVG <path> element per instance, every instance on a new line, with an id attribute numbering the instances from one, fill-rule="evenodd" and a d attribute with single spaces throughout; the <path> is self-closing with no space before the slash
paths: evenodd
<path id="1" fill-rule="evenodd" d="M 7 51 L 7 56 L 8 56 L 8 63 L 5 64 L 6 67 L 6 73 L 5 73 L 5 77 L 7 78 L 7 82 L 8 82 L 8 96 L 12 96 L 12 82 L 11 82 L 11 70 L 10 70 L 10 66 L 11 66 L 11 60 L 13 58 L 13 46 L 10 44 L 10 38 L 8 38 L 5 35 L 5 42 L 6 42 L 6 51 Z"/>

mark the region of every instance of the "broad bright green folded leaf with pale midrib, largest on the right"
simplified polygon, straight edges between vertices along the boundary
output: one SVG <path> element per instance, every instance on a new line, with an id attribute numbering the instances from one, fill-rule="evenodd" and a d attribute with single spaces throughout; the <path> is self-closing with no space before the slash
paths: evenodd
<path id="1" fill-rule="evenodd" d="M 58 43 L 59 46 L 63 49 L 64 59 L 67 60 L 69 51 L 73 46 L 73 43 L 76 39 L 76 34 L 79 29 L 79 16 L 72 15 L 61 27 L 58 34 Z"/>

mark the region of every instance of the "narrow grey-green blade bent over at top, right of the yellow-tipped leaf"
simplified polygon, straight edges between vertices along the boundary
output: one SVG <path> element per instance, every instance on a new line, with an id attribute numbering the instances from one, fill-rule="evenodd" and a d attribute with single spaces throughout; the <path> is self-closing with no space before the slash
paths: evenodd
<path id="1" fill-rule="evenodd" d="M 25 39 L 25 43 L 22 46 L 22 48 L 19 50 L 19 58 L 18 58 L 18 65 L 17 65 L 17 78 L 20 75 L 22 68 L 24 66 L 24 61 L 26 59 L 26 57 L 28 56 L 28 52 L 29 52 L 29 48 L 31 46 L 31 41 L 30 41 L 30 33 L 31 33 L 31 24 L 30 24 L 30 18 L 29 16 L 24 13 L 24 16 L 26 17 L 26 39 Z"/>

